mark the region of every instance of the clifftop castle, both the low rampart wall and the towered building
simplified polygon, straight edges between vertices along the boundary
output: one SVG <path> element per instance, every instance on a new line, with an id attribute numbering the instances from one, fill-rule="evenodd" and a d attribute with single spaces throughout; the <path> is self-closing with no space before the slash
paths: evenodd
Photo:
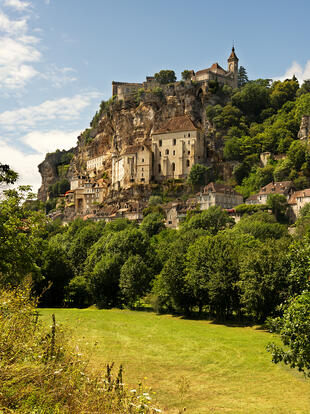
<path id="1" fill-rule="evenodd" d="M 232 88 L 238 87 L 238 62 L 239 59 L 235 53 L 235 48 L 232 48 L 228 61 L 228 70 L 223 69 L 218 63 L 207 69 L 198 70 L 196 73 L 191 70 L 191 80 L 201 84 L 207 84 L 209 81 L 217 81 L 220 85 L 228 85 Z M 147 76 L 145 82 L 130 83 L 130 82 L 112 82 L 112 96 L 117 96 L 118 99 L 125 99 L 138 91 L 140 88 L 149 89 L 154 86 L 159 86 L 153 76 Z"/>

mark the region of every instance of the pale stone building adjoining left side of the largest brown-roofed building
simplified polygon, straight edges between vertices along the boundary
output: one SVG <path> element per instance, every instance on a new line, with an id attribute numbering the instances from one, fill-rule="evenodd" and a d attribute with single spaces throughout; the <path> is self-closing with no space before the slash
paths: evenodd
<path id="1" fill-rule="evenodd" d="M 152 152 L 146 144 L 132 145 L 112 155 L 112 188 L 119 190 L 133 183 L 149 184 L 152 174 Z"/>

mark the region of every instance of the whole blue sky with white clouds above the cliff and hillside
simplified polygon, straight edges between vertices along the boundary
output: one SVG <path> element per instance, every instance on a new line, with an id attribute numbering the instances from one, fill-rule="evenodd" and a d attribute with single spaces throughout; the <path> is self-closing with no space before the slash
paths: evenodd
<path id="1" fill-rule="evenodd" d="M 310 78 L 310 1 L 0 0 L 0 162 L 36 191 L 46 152 L 70 149 L 111 82 L 161 69 Z"/>

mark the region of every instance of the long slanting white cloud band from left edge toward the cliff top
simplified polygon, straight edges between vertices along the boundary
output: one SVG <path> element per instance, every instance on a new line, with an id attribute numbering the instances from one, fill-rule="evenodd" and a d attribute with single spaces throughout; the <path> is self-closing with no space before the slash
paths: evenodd
<path id="1" fill-rule="evenodd" d="M 38 123 L 46 123 L 51 120 L 71 121 L 78 119 L 81 112 L 88 107 L 93 99 L 98 99 L 98 92 L 78 94 L 72 98 L 48 100 L 37 106 L 5 111 L 0 114 L 0 126 L 11 131 L 16 127 L 29 129 Z"/>

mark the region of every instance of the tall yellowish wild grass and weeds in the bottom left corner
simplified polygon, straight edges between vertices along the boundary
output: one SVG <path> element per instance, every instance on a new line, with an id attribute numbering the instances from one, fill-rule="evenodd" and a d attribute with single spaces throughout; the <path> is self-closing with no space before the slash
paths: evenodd
<path id="1" fill-rule="evenodd" d="M 0 412 L 160 412 L 141 384 L 126 388 L 122 367 L 93 374 L 54 316 L 50 329 L 41 325 L 36 304 L 29 284 L 0 290 Z"/>

